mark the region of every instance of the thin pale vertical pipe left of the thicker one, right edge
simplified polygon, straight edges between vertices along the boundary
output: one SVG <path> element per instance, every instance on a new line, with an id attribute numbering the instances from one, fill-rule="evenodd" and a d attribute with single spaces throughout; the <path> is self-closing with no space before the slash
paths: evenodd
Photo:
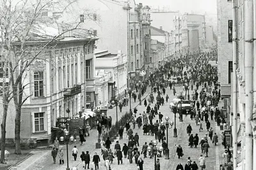
<path id="1" fill-rule="evenodd" d="M 233 12 L 233 167 L 236 169 L 237 167 L 237 25 L 236 25 L 236 0 L 232 0 L 232 12 Z"/>

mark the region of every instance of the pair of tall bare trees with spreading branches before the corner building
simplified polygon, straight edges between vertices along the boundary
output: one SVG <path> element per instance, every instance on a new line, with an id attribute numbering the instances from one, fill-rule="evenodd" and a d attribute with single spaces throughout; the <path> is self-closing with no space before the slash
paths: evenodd
<path id="1" fill-rule="evenodd" d="M 24 77 L 29 66 L 36 59 L 44 59 L 44 53 L 49 52 L 63 34 L 80 29 L 88 32 L 81 26 L 81 18 L 63 22 L 60 16 L 45 16 L 47 11 L 70 13 L 76 0 L 0 0 L 0 56 L 3 61 L 4 71 L 8 70 L 9 79 L 3 78 L 3 121 L 1 124 L 1 159 L 4 163 L 4 150 L 6 138 L 6 116 L 8 104 L 13 99 L 15 104 L 15 153 L 20 154 L 20 117 L 22 104 L 31 97 L 24 97 L 24 89 L 29 84 L 24 84 Z M 90 10 L 84 10 L 90 11 Z M 83 11 L 83 12 L 84 12 Z M 81 13 L 86 17 L 94 17 L 90 13 Z M 61 21 L 61 22 L 60 22 Z M 46 28 L 54 27 L 55 32 Z M 28 45 L 36 41 L 36 45 Z M 42 57 L 43 56 L 43 57 Z M 42 57 L 42 58 L 41 58 Z"/>

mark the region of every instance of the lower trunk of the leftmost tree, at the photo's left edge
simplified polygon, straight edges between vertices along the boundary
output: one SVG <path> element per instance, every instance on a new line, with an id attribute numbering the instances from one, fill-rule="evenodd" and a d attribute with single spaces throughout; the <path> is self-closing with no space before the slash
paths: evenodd
<path id="1" fill-rule="evenodd" d="M 4 97 L 5 98 L 5 97 Z M 5 138 L 6 138 L 6 117 L 7 117 L 7 111 L 8 111 L 8 102 L 6 102 L 6 99 L 3 98 L 3 120 L 1 124 L 1 159 L 0 163 L 5 164 L 4 161 L 4 151 L 5 151 Z"/>

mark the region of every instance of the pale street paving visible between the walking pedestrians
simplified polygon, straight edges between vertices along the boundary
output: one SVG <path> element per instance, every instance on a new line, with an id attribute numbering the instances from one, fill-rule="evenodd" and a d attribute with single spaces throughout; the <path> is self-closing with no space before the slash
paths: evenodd
<path id="1" fill-rule="evenodd" d="M 180 90 L 182 90 L 182 87 L 176 87 L 177 92 L 179 92 Z M 147 89 L 146 94 L 148 94 L 148 92 L 150 92 L 150 89 Z M 170 90 L 170 88 L 166 88 L 166 94 L 168 94 L 168 96 L 170 97 L 170 101 L 173 98 L 173 94 L 172 91 Z M 154 94 L 154 96 L 156 97 L 156 94 Z M 145 95 L 143 96 L 145 97 Z M 155 104 L 155 103 L 154 103 Z M 134 103 L 134 101 L 132 101 L 132 108 L 134 108 L 135 106 L 138 105 L 137 103 Z M 145 111 L 145 106 L 137 106 L 138 108 L 138 113 L 143 113 L 143 111 Z M 119 113 L 118 112 L 118 118 L 120 118 L 120 116 L 122 116 L 122 114 L 125 113 L 125 111 L 129 111 L 129 106 L 125 106 L 123 108 L 123 112 Z M 118 110 L 119 111 L 119 110 Z M 160 106 L 160 110 L 161 113 L 163 113 L 164 117 L 168 116 L 170 117 L 170 121 L 174 122 L 174 114 L 170 111 L 169 109 L 169 103 L 164 103 L 164 106 Z M 108 116 L 111 116 L 113 118 L 113 122 L 115 122 L 115 115 L 116 115 L 116 110 L 112 109 L 112 110 L 108 110 Z M 178 115 L 178 114 L 177 114 Z M 158 120 L 158 116 L 156 116 L 156 118 L 154 118 L 153 123 L 156 122 L 156 120 Z M 163 118 L 164 120 L 164 118 Z M 196 162 L 198 162 L 198 158 L 200 157 L 201 154 L 201 150 L 200 147 L 198 148 L 189 148 L 188 146 L 188 134 L 186 134 L 186 127 L 188 126 L 188 124 L 191 124 L 192 126 L 192 134 L 198 134 L 199 138 L 201 139 L 205 133 L 207 133 L 206 130 L 206 125 L 205 122 L 203 122 L 203 128 L 204 130 L 199 132 L 199 127 L 195 124 L 195 120 L 191 120 L 189 116 L 183 117 L 183 122 L 179 122 L 179 118 L 177 116 L 177 134 L 178 137 L 177 138 L 173 138 L 173 129 L 168 129 L 168 147 L 170 149 L 170 159 L 164 159 L 164 156 L 159 158 L 160 159 L 160 163 L 161 163 L 161 169 L 171 169 L 171 170 L 175 170 L 177 164 L 180 162 L 183 166 L 186 164 L 186 160 L 188 159 L 188 157 L 191 157 L 191 160 L 195 160 Z M 219 141 L 221 143 L 221 137 L 220 137 L 220 127 L 216 126 L 216 123 L 212 120 L 210 120 L 211 122 L 211 126 L 215 127 L 215 131 L 218 133 L 219 136 Z M 139 150 L 141 151 L 142 145 L 145 143 L 145 141 L 147 141 L 148 143 L 150 142 L 151 139 L 154 140 L 154 136 L 148 136 L 148 135 L 143 135 L 143 131 L 142 128 L 138 129 L 138 126 L 136 126 L 136 128 L 133 130 L 134 134 L 136 132 L 138 132 L 139 136 L 140 136 L 140 146 L 138 146 Z M 125 138 L 126 134 L 124 133 L 124 139 L 121 139 L 119 141 L 120 145 L 123 146 L 124 143 L 128 143 L 127 139 Z M 116 141 L 116 140 L 115 140 Z M 79 154 L 78 154 L 78 158 L 76 161 L 74 161 L 73 157 L 72 157 L 72 153 L 70 152 L 72 150 L 72 147 L 74 145 L 68 145 L 68 157 L 69 159 L 69 167 L 74 167 L 76 166 L 78 169 L 83 169 L 83 164 L 81 162 L 80 159 L 80 154 L 82 151 L 86 151 L 88 150 L 92 155 L 94 154 L 94 152 L 97 152 L 100 154 L 100 149 L 95 149 L 95 143 L 97 142 L 97 131 L 95 129 L 93 129 L 91 131 L 91 134 L 89 137 L 86 137 L 86 143 L 83 145 L 79 145 L 77 143 L 77 148 L 79 150 Z M 177 154 L 176 154 L 176 148 L 177 145 L 181 145 L 183 150 L 184 150 L 184 156 L 181 159 L 178 159 Z M 210 148 L 209 148 L 209 157 L 205 158 L 206 159 L 206 170 L 208 169 L 219 169 L 219 164 L 222 163 L 220 161 L 221 159 L 221 155 L 223 153 L 223 146 L 220 146 L 221 144 L 218 144 L 218 146 L 213 146 L 211 141 L 209 142 Z M 115 146 L 115 142 L 112 143 L 111 148 L 113 149 Z M 161 146 L 161 143 L 158 143 L 157 146 Z M 34 154 L 33 156 L 29 157 L 29 159 L 24 160 L 24 162 L 21 162 L 19 165 L 17 166 L 13 166 L 11 169 L 20 169 L 20 170 L 36 170 L 36 169 L 51 169 L 51 170 L 58 170 L 58 169 L 65 169 L 67 167 L 67 155 L 66 155 L 66 146 L 61 146 L 64 150 L 64 160 L 65 160 L 65 164 L 58 164 L 58 161 L 56 162 L 56 164 L 53 164 L 52 161 L 52 157 L 51 157 L 51 151 L 49 150 L 45 150 L 45 151 L 38 151 L 35 150 L 32 153 Z M 163 154 L 162 154 L 163 155 Z M 91 158 L 92 159 L 92 158 Z M 58 160 L 58 157 L 57 157 Z M 102 159 L 102 157 L 100 156 L 100 168 L 99 169 L 106 169 L 106 167 L 104 167 L 104 161 Z M 154 169 L 154 159 L 149 159 L 148 157 L 144 160 L 144 165 L 143 168 L 144 169 Z M 94 166 L 90 165 L 90 167 Z M 124 164 L 120 164 L 117 165 L 117 160 L 114 159 L 113 164 L 111 165 L 112 169 L 120 169 L 122 168 L 122 170 L 130 170 L 130 169 L 137 169 L 136 164 L 133 162 L 132 164 L 129 163 L 129 160 L 124 160 Z"/>

